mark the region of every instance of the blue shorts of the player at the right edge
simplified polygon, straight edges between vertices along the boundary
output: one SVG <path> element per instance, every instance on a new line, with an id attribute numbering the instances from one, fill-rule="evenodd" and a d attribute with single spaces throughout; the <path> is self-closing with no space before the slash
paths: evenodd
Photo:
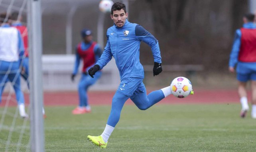
<path id="1" fill-rule="evenodd" d="M 256 62 L 238 62 L 236 66 L 236 78 L 240 82 L 256 80 Z"/>

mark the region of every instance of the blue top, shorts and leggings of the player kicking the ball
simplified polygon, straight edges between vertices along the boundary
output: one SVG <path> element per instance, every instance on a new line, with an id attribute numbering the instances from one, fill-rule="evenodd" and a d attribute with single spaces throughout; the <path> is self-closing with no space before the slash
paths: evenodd
<path id="1" fill-rule="evenodd" d="M 154 62 L 161 63 L 161 56 L 157 39 L 142 26 L 130 23 L 127 19 L 123 27 L 119 28 L 116 25 L 110 27 L 106 36 L 106 47 L 96 64 L 102 69 L 112 57 L 116 60 L 121 83 L 112 99 L 112 108 L 107 122 L 107 125 L 115 127 L 128 98 L 141 110 L 148 109 L 164 98 L 161 90 L 146 94 L 146 88 L 142 82 L 144 69 L 140 63 L 140 42 L 143 41 L 151 47 Z"/>

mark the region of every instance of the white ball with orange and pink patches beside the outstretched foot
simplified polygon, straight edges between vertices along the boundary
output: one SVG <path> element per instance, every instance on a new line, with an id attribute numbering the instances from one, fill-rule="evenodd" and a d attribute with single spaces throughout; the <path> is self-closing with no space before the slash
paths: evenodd
<path id="1" fill-rule="evenodd" d="M 171 82 L 171 93 L 175 97 L 187 97 L 192 90 L 191 82 L 185 77 L 177 77 Z M 193 92 L 193 91 L 192 91 Z"/>

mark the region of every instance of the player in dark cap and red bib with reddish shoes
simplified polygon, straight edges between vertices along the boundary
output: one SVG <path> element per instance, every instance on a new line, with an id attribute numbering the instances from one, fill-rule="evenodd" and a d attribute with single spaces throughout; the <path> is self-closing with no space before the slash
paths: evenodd
<path id="1" fill-rule="evenodd" d="M 81 36 L 83 41 L 77 45 L 75 67 L 71 75 L 71 80 L 74 81 L 79 68 L 80 60 L 82 59 L 83 71 L 81 80 L 78 84 L 79 106 L 72 111 L 74 115 L 91 112 L 87 90 L 89 86 L 95 84 L 102 74 L 102 72 L 98 72 L 95 74 L 95 78 L 91 78 L 91 76 L 88 75 L 87 70 L 95 65 L 98 58 L 100 58 L 102 50 L 100 49 L 99 45 L 93 41 L 91 30 L 83 29 L 81 31 Z"/>

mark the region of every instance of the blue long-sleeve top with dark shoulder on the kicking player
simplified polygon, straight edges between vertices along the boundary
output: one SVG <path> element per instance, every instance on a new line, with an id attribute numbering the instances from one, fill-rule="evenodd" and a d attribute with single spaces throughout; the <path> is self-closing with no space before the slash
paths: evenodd
<path id="1" fill-rule="evenodd" d="M 123 27 L 113 25 L 108 28 L 107 43 L 96 64 L 102 69 L 112 57 L 116 60 L 120 79 L 144 78 L 144 69 L 140 63 L 140 42 L 147 43 L 152 50 L 154 62 L 161 63 L 158 40 L 146 29 L 127 19 Z"/>

